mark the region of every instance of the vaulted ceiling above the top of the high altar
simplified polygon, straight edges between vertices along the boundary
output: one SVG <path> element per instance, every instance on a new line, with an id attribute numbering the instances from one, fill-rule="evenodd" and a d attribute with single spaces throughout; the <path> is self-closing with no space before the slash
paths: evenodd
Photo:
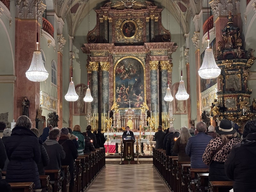
<path id="1" fill-rule="evenodd" d="M 102 1 L 102 0 L 45 0 L 47 11 L 55 11 L 56 14 L 63 20 L 67 20 L 69 34 L 71 35 L 71 18 L 72 18 L 72 35 L 76 34 L 76 30 L 88 15 L 88 10 L 99 8 L 107 2 L 112 4 L 119 2 L 134 2 L 135 0 L 121 0 L 121 1 Z M 136 1 L 145 2 L 145 1 Z M 167 7 L 169 13 L 180 23 L 181 10 L 181 26 L 183 33 L 188 33 L 191 17 L 198 14 L 201 10 L 203 0 L 155 0 L 150 1 L 157 6 Z M 72 14 L 72 17 L 71 17 Z"/>

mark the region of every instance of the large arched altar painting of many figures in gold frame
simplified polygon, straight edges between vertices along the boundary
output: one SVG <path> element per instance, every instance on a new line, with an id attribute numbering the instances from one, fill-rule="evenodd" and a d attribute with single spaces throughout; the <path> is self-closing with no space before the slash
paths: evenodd
<path id="1" fill-rule="evenodd" d="M 114 99 L 119 108 L 140 108 L 145 101 L 144 65 L 136 57 L 127 56 L 116 62 Z"/>

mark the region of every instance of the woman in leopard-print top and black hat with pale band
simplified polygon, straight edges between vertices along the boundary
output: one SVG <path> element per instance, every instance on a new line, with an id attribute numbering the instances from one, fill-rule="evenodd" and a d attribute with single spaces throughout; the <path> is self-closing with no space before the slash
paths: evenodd
<path id="1" fill-rule="evenodd" d="M 220 121 L 220 126 L 215 128 L 217 135 L 212 139 L 203 154 L 204 164 L 209 167 L 209 181 L 228 181 L 225 174 L 224 163 L 231 148 L 240 143 L 236 137 L 236 130 L 228 119 Z"/>

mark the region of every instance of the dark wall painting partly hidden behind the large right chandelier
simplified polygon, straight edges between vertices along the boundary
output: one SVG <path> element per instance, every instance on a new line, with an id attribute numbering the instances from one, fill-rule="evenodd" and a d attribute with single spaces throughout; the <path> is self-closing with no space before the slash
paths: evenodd
<path id="1" fill-rule="evenodd" d="M 216 39 L 214 39 L 212 43 L 210 43 L 210 47 L 213 49 L 213 54 L 214 54 L 216 52 Z M 201 54 L 201 58 L 200 58 L 201 66 L 202 66 L 203 60 L 204 60 L 204 52 Z M 217 78 L 214 78 L 214 79 L 200 78 L 200 81 L 201 81 L 201 92 L 204 92 L 206 89 L 209 89 L 210 87 L 212 87 L 217 83 Z"/>

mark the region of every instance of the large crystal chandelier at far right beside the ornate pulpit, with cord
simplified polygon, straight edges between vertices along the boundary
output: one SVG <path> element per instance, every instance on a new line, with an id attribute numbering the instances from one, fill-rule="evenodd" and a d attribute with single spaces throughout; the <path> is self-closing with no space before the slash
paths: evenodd
<path id="1" fill-rule="evenodd" d="M 208 0 L 207 0 L 207 12 L 208 12 Z M 209 12 L 208 12 L 208 22 L 209 22 Z M 210 41 L 210 33 L 208 27 L 208 47 L 204 52 L 204 60 L 203 64 L 198 70 L 198 74 L 203 79 L 214 79 L 220 75 L 221 69 L 217 66 L 213 51 L 210 48 L 209 41 Z"/>

